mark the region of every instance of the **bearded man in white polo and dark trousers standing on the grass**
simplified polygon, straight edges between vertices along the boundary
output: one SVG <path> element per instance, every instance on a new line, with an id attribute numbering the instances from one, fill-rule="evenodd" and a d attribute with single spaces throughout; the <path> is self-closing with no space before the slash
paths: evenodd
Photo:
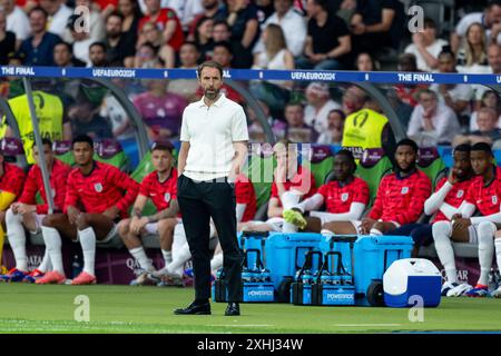
<path id="1" fill-rule="evenodd" d="M 204 97 L 183 112 L 177 199 L 193 257 L 195 301 L 177 315 L 210 314 L 209 221 L 219 236 L 228 306 L 225 315 L 240 314 L 243 256 L 236 239 L 235 177 L 247 157 L 247 120 L 243 108 L 220 92 L 223 67 L 206 61 L 198 67 Z"/>

